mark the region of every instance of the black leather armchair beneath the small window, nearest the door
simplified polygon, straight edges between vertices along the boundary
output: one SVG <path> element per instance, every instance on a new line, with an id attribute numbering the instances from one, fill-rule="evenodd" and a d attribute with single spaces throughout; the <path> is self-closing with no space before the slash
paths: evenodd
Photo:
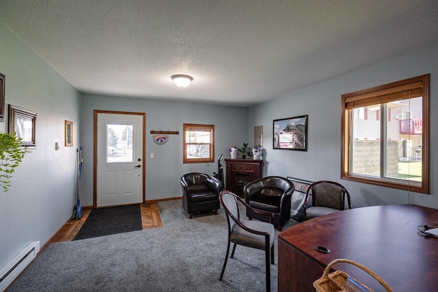
<path id="1" fill-rule="evenodd" d="M 181 176 L 183 189 L 183 209 L 192 219 L 193 213 L 214 210 L 218 213 L 220 208 L 219 194 L 222 183 L 214 176 L 200 172 L 190 172 Z"/>

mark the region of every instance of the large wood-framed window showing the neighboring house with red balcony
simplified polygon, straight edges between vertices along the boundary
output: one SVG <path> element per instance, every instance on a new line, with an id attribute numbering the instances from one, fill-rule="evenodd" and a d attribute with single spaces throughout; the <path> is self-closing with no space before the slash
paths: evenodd
<path id="1" fill-rule="evenodd" d="M 428 77 L 342 95 L 341 178 L 428 194 Z"/>

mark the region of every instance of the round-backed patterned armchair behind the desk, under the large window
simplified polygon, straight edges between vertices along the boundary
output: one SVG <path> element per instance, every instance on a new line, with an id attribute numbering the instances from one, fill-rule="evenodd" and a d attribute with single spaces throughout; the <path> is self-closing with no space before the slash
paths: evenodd
<path id="1" fill-rule="evenodd" d="M 307 189 L 305 204 L 310 196 L 311 207 L 306 209 L 305 220 L 352 208 L 347 189 L 334 181 L 317 181 L 311 184 Z"/>

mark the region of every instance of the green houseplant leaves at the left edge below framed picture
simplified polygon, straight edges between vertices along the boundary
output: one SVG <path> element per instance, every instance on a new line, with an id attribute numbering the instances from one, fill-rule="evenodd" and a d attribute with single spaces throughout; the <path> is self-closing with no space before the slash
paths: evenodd
<path id="1" fill-rule="evenodd" d="M 0 133 L 0 186 L 3 191 L 9 190 L 15 168 L 29 152 L 26 147 L 21 146 L 21 140 L 16 132 Z"/>

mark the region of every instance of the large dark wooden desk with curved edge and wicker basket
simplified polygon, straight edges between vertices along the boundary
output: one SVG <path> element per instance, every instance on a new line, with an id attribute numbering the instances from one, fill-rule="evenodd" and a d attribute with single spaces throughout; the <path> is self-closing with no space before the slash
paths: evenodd
<path id="1" fill-rule="evenodd" d="M 438 238 L 417 230 L 431 224 L 438 224 L 438 210 L 416 205 L 350 209 L 302 222 L 279 233 L 279 291 L 315 291 L 313 282 L 336 258 L 365 265 L 394 291 L 437 291 Z M 316 245 L 331 252 L 318 252 Z M 383 289 L 359 267 L 334 268 Z"/>

